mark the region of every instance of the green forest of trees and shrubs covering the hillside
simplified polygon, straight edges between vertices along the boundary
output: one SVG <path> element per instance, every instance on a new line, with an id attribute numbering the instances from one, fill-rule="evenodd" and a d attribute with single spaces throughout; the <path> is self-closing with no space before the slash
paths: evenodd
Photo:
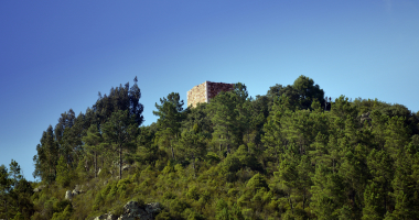
<path id="1" fill-rule="evenodd" d="M 158 220 L 419 219 L 419 112 L 332 100 L 300 76 L 256 97 L 237 82 L 195 108 L 171 92 L 142 125 L 137 82 L 46 128 L 37 182 L 1 165 L 0 219 L 120 216 L 128 201 L 159 202 Z"/>

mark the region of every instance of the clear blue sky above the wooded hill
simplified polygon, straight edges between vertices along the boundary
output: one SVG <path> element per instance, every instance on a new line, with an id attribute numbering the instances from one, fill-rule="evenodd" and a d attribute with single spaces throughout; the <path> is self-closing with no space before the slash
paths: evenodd
<path id="1" fill-rule="evenodd" d="M 150 124 L 205 80 L 256 96 L 300 75 L 417 112 L 419 1 L 0 1 L 0 164 L 33 180 L 42 132 L 135 76 Z"/>

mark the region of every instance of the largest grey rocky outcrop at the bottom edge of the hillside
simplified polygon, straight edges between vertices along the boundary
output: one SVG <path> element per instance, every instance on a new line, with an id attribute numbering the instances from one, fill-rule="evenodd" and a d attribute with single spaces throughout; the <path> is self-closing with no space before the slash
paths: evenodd
<path id="1" fill-rule="evenodd" d="M 96 217 L 95 220 L 153 220 L 154 217 L 160 212 L 161 206 L 159 202 L 147 204 L 140 206 L 137 201 L 129 201 L 123 206 L 123 215 L 116 217 L 111 213 L 106 213 L 99 217 Z"/>

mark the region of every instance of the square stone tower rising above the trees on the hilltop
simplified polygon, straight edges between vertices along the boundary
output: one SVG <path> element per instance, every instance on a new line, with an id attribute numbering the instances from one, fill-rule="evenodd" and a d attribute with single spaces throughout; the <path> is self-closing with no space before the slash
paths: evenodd
<path id="1" fill-rule="evenodd" d="M 205 81 L 187 91 L 187 106 L 196 107 L 198 102 L 208 103 L 221 91 L 233 90 L 234 84 Z"/>

